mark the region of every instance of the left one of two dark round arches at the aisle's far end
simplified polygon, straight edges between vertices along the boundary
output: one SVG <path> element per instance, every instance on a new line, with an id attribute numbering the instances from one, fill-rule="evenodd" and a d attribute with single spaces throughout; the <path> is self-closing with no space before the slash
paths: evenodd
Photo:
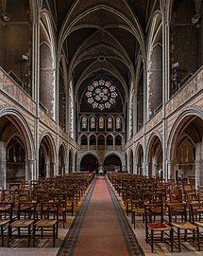
<path id="1" fill-rule="evenodd" d="M 84 155 L 80 162 L 80 172 L 97 172 L 98 171 L 98 160 L 94 155 Z"/>

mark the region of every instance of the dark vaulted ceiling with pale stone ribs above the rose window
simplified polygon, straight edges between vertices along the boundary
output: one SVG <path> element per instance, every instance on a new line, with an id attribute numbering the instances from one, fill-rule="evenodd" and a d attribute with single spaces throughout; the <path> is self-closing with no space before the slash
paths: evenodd
<path id="1" fill-rule="evenodd" d="M 138 56 L 144 56 L 147 20 L 159 1 L 57 0 L 59 42 L 66 56 L 68 77 L 81 97 L 96 77 L 116 81 L 121 97 L 128 96 Z"/>

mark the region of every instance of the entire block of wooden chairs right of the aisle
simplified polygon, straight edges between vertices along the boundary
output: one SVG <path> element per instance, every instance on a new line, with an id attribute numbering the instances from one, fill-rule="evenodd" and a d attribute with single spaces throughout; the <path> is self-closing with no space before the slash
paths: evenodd
<path id="1" fill-rule="evenodd" d="M 134 175 L 134 176 L 133 176 Z M 143 216 L 145 241 L 154 251 L 156 241 L 167 242 L 181 251 L 181 241 L 193 241 L 200 250 L 203 242 L 203 190 L 191 184 L 168 184 L 157 178 L 139 177 L 136 174 L 110 174 L 115 192 L 122 197 L 123 205 L 136 216 Z M 139 183 L 141 186 L 139 186 Z M 143 188 L 145 190 L 143 190 Z"/>

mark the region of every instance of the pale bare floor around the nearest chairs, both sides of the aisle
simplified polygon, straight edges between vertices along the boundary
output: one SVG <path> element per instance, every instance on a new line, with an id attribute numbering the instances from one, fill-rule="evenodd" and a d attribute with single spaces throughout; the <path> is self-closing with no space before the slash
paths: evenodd
<path id="1" fill-rule="evenodd" d="M 127 217 L 129 224 L 131 225 L 130 215 Z M 74 217 L 68 216 L 65 229 L 59 228 L 59 239 L 56 247 L 52 247 L 52 241 L 41 240 L 37 247 L 26 247 L 26 241 L 19 243 L 16 241 L 11 244 L 10 247 L 0 247 L 0 256 L 56 256 L 59 247 L 73 222 Z M 131 225 L 132 227 L 132 225 Z M 133 228 L 133 227 L 132 227 Z M 145 243 L 144 240 L 144 223 L 141 216 L 136 216 L 136 227 L 134 233 L 144 249 L 146 256 L 155 255 L 167 255 L 167 256 L 191 256 L 191 255 L 203 255 L 203 246 L 201 251 L 197 251 L 193 244 L 182 243 L 181 252 L 178 252 L 178 247 L 175 247 L 175 251 L 170 252 L 170 247 L 164 243 L 156 244 L 155 252 L 151 253 L 151 248 Z M 81 255 L 82 256 L 82 255 Z M 96 255 L 90 255 L 96 256 Z M 105 255 L 104 255 L 105 256 Z M 116 255 L 112 255 L 116 256 Z"/>

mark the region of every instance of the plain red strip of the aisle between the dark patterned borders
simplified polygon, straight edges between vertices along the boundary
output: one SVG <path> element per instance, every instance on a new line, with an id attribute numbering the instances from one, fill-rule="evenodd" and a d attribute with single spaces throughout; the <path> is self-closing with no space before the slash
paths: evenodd
<path id="1" fill-rule="evenodd" d="M 128 255 L 106 178 L 103 176 L 96 180 L 74 255 Z"/>

